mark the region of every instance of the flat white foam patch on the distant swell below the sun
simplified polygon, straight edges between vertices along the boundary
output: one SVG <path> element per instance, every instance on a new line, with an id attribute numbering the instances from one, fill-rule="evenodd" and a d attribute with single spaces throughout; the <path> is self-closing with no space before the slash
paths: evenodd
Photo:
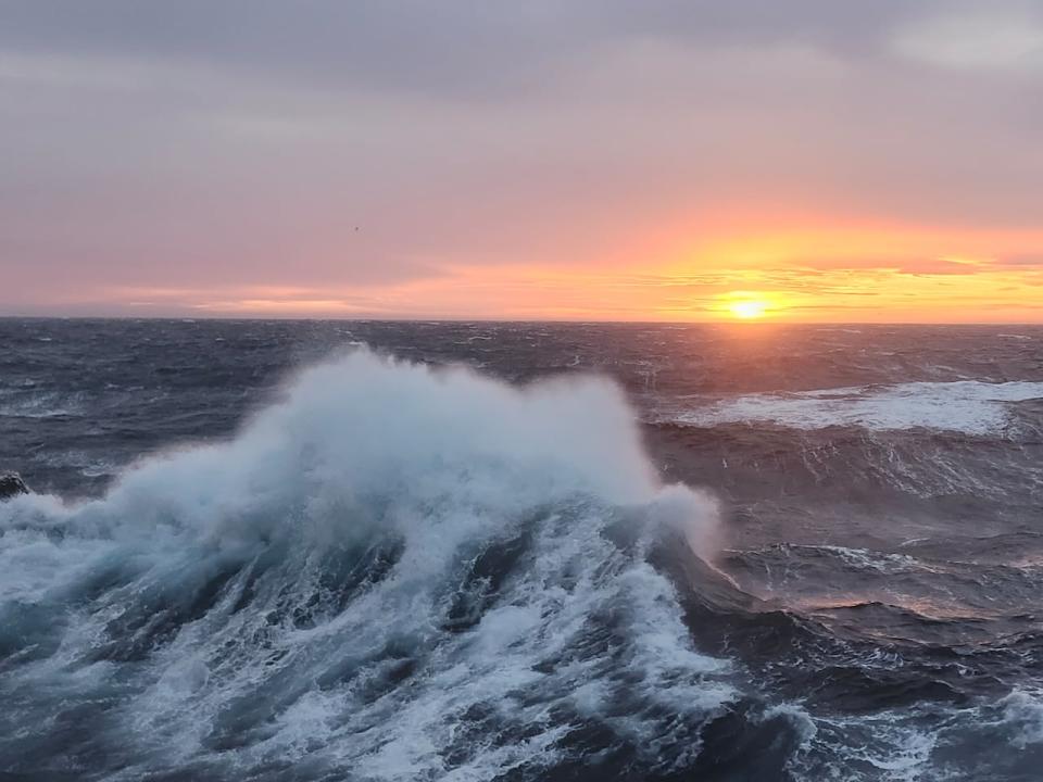
<path id="1" fill-rule="evenodd" d="M 709 401 L 680 413 L 676 420 L 701 427 L 771 422 L 795 429 L 857 426 L 887 431 L 922 427 L 990 434 L 1009 425 L 1011 403 L 1038 399 L 1043 399 L 1043 382 L 909 382 L 745 394 Z"/>

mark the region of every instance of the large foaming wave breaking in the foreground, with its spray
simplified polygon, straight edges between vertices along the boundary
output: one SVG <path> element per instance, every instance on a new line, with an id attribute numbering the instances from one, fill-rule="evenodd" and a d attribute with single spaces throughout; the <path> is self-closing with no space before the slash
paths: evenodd
<path id="1" fill-rule="evenodd" d="M 78 779 L 665 773 L 737 697 L 698 652 L 620 391 L 365 351 L 101 500 L 0 505 L 0 768 Z M 595 747 L 595 748 L 593 748 Z"/>

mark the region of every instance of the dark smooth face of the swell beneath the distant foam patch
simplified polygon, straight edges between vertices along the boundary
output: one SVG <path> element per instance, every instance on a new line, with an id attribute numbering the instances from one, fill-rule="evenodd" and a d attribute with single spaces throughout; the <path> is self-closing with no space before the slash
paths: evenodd
<path id="1" fill-rule="evenodd" d="M 978 533 L 1031 522 L 1043 502 L 1043 441 L 1029 424 L 997 437 L 668 422 L 646 433 L 673 479 L 698 478 L 742 504 L 801 497 L 806 507 L 821 504 L 822 514 L 846 506 L 897 517 L 916 537 L 921 520 L 937 518 L 966 520 Z M 982 519 L 991 519 L 989 529 Z"/>

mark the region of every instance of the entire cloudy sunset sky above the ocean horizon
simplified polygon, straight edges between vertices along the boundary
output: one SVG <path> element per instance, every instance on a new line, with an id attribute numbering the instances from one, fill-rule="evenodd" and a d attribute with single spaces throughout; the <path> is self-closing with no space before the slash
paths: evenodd
<path id="1" fill-rule="evenodd" d="M 0 0 L 0 315 L 1043 321 L 1043 0 Z"/>

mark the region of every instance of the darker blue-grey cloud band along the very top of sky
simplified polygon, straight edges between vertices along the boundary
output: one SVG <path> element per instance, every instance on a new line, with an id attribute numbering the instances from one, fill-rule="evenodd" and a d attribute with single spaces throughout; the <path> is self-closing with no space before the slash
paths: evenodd
<path id="1" fill-rule="evenodd" d="M 577 52 L 644 37 L 867 52 L 909 9 L 902 0 L 34 0 L 7 3 L 0 48 L 166 58 L 335 88 L 499 99 L 505 89 L 539 89 Z"/>

